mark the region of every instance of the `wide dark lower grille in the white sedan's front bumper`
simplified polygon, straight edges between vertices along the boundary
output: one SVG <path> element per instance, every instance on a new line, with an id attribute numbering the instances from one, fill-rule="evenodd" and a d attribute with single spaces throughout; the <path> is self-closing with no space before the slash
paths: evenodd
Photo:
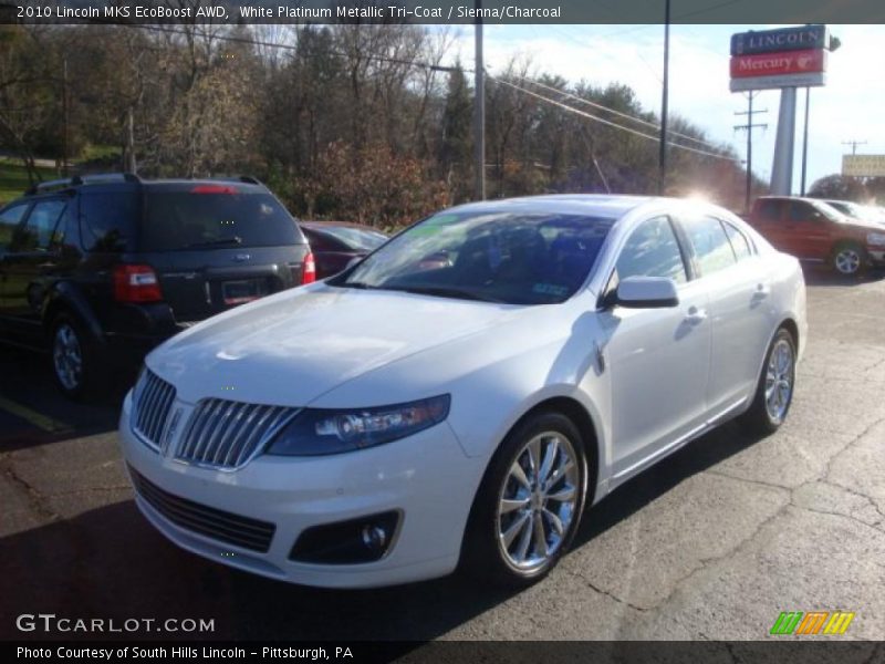
<path id="1" fill-rule="evenodd" d="M 243 549 L 266 552 L 277 527 L 267 521 L 194 502 L 160 489 L 129 466 L 135 490 L 150 507 L 176 526 Z"/>

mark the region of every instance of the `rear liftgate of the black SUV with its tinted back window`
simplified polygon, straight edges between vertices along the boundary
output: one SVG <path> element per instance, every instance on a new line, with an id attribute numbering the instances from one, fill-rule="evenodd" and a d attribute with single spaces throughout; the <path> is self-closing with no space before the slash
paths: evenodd
<path id="1" fill-rule="evenodd" d="M 137 262 L 157 272 L 178 322 L 301 283 L 308 245 L 267 190 L 236 184 L 145 185 Z"/>

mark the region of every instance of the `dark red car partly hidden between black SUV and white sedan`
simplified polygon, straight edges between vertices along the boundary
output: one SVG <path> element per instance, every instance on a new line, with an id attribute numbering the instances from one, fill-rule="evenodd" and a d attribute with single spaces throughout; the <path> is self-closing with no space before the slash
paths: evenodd
<path id="1" fill-rule="evenodd" d="M 337 274 L 355 258 L 363 258 L 387 241 L 387 236 L 347 221 L 300 221 L 316 261 L 316 278 Z"/>

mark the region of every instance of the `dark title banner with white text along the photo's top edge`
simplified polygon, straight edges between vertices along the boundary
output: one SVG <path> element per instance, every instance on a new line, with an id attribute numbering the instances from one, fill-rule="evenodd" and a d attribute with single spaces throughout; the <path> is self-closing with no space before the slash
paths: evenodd
<path id="1" fill-rule="evenodd" d="M 662 23 L 664 1 L 0 0 L 3 23 Z M 882 0 L 673 0 L 674 23 L 881 23 Z M 745 51 L 749 53 L 751 51 Z"/>

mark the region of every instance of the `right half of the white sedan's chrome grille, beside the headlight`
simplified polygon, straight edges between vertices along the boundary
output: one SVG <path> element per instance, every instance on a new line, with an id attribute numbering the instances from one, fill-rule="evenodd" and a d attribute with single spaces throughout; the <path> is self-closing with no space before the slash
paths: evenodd
<path id="1" fill-rule="evenodd" d="M 177 459 L 216 468 L 239 468 L 258 453 L 298 408 L 221 398 L 197 404 L 175 454 Z"/>

